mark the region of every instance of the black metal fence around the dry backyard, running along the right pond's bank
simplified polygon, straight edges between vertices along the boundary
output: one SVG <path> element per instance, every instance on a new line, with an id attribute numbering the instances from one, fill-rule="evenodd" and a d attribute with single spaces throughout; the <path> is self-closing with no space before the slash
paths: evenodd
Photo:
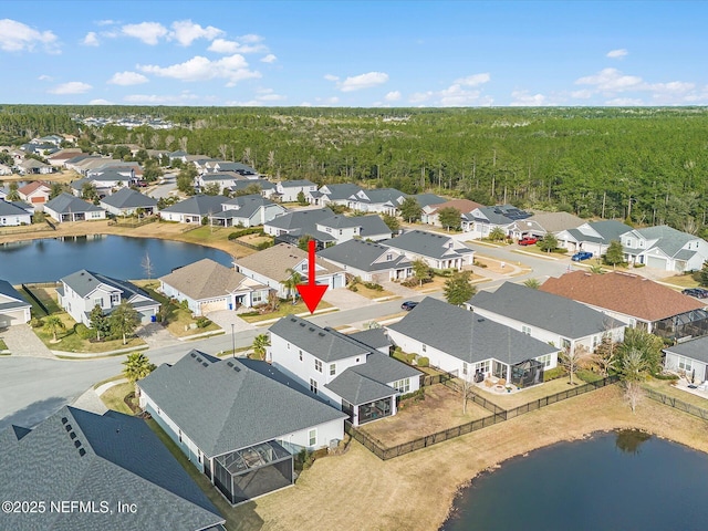
<path id="1" fill-rule="evenodd" d="M 444 377 L 446 375 L 435 375 L 431 376 L 434 378 Z M 461 387 L 458 383 L 452 379 L 452 375 L 447 374 L 447 378 L 441 379 L 440 383 L 444 385 L 455 388 L 460 392 Z M 485 409 L 490 410 L 492 414 L 479 418 L 477 420 L 472 420 L 471 423 L 462 424 L 461 426 L 455 426 L 452 428 L 448 428 L 441 431 L 437 431 L 431 435 L 427 435 L 425 437 L 419 437 L 414 440 L 409 440 L 402 445 L 397 445 L 394 447 L 384 447 L 381 441 L 373 439 L 365 433 L 358 430 L 351 423 L 345 421 L 345 431 L 355 440 L 361 442 L 366 449 L 368 449 L 372 454 L 378 457 L 382 460 L 393 459 L 394 457 L 404 456 L 406 454 L 410 454 L 412 451 L 420 450 L 423 448 L 427 448 L 428 446 L 437 445 L 438 442 L 444 442 L 449 439 L 454 439 L 461 435 L 471 434 L 472 431 L 477 431 L 479 429 L 486 428 L 488 426 L 493 426 L 498 423 L 503 423 L 504 420 L 509 420 L 511 418 L 518 417 L 520 415 L 524 415 L 530 412 L 534 412 L 542 407 L 549 406 L 551 404 L 555 404 L 558 402 L 565 400 L 568 398 L 572 398 L 573 396 L 582 395 L 584 393 L 589 393 L 591 391 L 600 389 L 607 385 L 612 385 L 620 381 L 620 377 L 616 375 L 608 376 L 603 379 L 598 379 L 597 382 L 592 382 L 589 384 L 583 384 L 579 386 L 573 386 L 573 388 L 563 391 L 561 393 L 555 393 L 554 395 L 545 396 L 543 398 L 539 398 L 533 402 L 529 402 L 528 404 L 523 404 L 522 406 L 514 407 L 513 409 L 503 409 L 502 407 L 493 404 L 487 398 L 478 395 L 472 389 L 468 389 L 468 396 L 476 404 L 479 404 Z M 705 412 L 708 416 L 708 412 Z M 708 418 L 708 417 L 707 417 Z"/>

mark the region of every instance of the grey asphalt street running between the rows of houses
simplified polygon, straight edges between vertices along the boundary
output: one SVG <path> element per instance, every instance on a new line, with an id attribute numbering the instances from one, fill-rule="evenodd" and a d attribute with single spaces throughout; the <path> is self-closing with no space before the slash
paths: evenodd
<path id="1" fill-rule="evenodd" d="M 551 261 L 511 252 L 512 248 L 493 249 L 473 243 L 470 247 L 483 254 L 509 263 L 521 262 L 533 269 L 529 274 L 511 279 L 514 282 L 529 277 L 545 280 L 546 277 L 562 274 L 568 268 L 568 259 Z M 487 282 L 481 288 L 493 289 L 502 282 L 503 280 Z M 424 296 L 414 296 L 412 300 L 419 301 Z M 441 298 L 440 294 L 434 296 Z M 400 300 L 316 315 L 312 317 L 312 322 L 320 326 L 334 327 L 363 323 L 398 312 L 400 312 Z M 147 355 L 153 363 L 160 365 L 175 363 L 191 348 L 218 354 L 231 350 L 232 342 L 236 343 L 237 348 L 249 346 L 253 337 L 264 331 L 266 329 L 243 331 L 235 334 L 233 337 L 227 333 L 176 346 L 149 350 Z M 73 403 L 96 382 L 119 374 L 124 360 L 125 356 L 85 361 L 0 356 L 0 430 L 10 424 L 27 427 L 37 425 L 63 405 Z"/>

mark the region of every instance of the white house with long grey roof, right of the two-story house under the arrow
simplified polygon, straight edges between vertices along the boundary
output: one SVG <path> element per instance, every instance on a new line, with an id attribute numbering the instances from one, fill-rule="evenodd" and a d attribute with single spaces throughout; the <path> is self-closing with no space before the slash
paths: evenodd
<path id="1" fill-rule="evenodd" d="M 558 365 L 559 347 L 429 296 L 386 329 L 404 352 L 467 381 L 494 376 L 528 387 Z"/>

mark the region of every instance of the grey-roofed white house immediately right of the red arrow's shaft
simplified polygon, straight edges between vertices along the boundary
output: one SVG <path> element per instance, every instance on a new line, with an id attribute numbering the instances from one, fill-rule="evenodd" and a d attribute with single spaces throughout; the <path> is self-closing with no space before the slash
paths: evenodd
<path id="1" fill-rule="evenodd" d="M 413 275 L 413 264 L 405 254 L 371 241 L 348 240 L 319 251 L 317 257 L 365 282 L 405 280 Z"/>

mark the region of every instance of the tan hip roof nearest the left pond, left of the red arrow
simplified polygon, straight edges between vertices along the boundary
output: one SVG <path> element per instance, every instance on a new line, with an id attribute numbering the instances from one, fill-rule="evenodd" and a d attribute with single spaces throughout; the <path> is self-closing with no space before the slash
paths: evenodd
<path id="1" fill-rule="evenodd" d="M 179 290 L 190 299 L 222 298 L 236 291 L 246 277 L 209 258 L 190 263 L 160 277 L 160 281 Z"/>

